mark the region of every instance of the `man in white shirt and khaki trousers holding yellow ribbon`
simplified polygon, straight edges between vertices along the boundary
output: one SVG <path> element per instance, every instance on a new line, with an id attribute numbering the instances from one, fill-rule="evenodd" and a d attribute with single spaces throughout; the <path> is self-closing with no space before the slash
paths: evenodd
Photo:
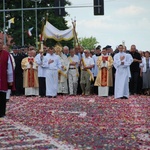
<path id="1" fill-rule="evenodd" d="M 94 81 L 91 69 L 94 67 L 94 61 L 90 57 L 90 51 L 84 50 L 85 57 L 81 59 L 81 80 L 80 85 L 82 95 L 90 95 L 91 81 Z"/>

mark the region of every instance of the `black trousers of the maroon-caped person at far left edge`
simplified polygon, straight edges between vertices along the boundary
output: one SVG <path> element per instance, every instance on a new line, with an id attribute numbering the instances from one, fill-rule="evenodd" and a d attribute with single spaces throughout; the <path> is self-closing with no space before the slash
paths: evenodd
<path id="1" fill-rule="evenodd" d="M 6 93 L 0 92 L 0 117 L 6 115 Z"/>

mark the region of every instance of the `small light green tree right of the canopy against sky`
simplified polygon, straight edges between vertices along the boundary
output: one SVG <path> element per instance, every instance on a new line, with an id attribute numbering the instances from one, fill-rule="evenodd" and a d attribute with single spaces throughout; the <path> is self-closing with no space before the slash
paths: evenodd
<path id="1" fill-rule="evenodd" d="M 84 38 L 79 38 L 79 43 L 81 46 L 83 46 L 86 49 L 92 50 L 96 47 L 96 44 L 98 44 L 98 41 L 96 40 L 95 37 L 84 37 Z"/>

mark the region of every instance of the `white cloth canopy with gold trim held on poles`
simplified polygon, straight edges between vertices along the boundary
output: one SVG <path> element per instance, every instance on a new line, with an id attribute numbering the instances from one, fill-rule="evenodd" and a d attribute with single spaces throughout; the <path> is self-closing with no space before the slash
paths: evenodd
<path id="1" fill-rule="evenodd" d="M 43 35 L 44 39 L 54 39 L 55 41 L 68 41 L 73 38 L 73 29 L 69 28 L 66 30 L 59 30 L 47 21 L 43 29 Z"/>

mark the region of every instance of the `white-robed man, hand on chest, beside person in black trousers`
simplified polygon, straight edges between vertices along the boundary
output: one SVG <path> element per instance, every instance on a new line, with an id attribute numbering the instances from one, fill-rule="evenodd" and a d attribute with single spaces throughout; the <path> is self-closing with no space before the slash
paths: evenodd
<path id="1" fill-rule="evenodd" d="M 60 56 L 54 53 L 53 48 L 49 48 L 44 59 L 46 59 L 43 62 L 43 66 L 46 67 L 46 96 L 56 98 L 58 92 L 58 70 L 63 68 Z"/>

